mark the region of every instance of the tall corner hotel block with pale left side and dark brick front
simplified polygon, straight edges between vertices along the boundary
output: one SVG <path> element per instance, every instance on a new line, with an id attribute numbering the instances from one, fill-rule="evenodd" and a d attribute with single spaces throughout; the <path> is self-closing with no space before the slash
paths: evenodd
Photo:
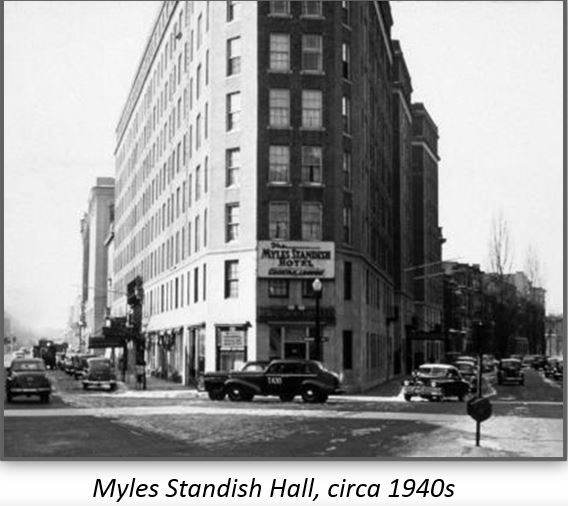
<path id="1" fill-rule="evenodd" d="M 387 2 L 162 4 L 116 130 L 111 292 L 124 315 L 142 278 L 152 372 L 310 357 L 351 388 L 402 372 L 415 113 L 391 25 Z"/>

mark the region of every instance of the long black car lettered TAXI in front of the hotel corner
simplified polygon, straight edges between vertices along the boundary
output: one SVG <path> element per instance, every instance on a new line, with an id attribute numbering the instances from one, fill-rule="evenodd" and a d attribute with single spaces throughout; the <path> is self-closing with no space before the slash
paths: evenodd
<path id="1" fill-rule="evenodd" d="M 290 402 L 301 395 L 304 402 L 313 403 L 341 393 L 339 376 L 314 360 L 274 360 L 264 369 L 251 364 L 243 369 L 225 377 L 205 374 L 209 397 L 223 400 L 227 395 L 231 401 L 250 401 L 255 395 L 275 395 L 282 402 Z"/>

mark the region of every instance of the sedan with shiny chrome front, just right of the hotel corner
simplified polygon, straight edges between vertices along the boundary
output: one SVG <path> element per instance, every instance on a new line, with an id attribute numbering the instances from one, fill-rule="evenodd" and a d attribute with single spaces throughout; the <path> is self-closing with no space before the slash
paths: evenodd
<path id="1" fill-rule="evenodd" d="M 470 384 L 453 365 L 423 364 L 414 371 L 411 379 L 404 381 L 402 391 L 407 401 L 413 397 L 430 401 L 457 397 L 463 401 L 470 391 Z"/>

